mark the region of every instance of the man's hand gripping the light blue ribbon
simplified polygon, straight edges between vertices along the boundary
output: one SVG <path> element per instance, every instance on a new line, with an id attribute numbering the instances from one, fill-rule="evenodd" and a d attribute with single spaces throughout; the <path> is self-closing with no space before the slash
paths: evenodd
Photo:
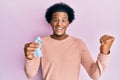
<path id="1" fill-rule="evenodd" d="M 27 59 L 32 60 L 34 58 L 34 51 L 37 47 L 39 47 L 39 44 L 35 42 L 25 44 L 24 46 L 25 57 Z"/>

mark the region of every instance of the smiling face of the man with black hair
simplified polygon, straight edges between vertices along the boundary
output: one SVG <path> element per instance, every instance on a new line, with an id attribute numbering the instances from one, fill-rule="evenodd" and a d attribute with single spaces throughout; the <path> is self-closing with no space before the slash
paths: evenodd
<path id="1" fill-rule="evenodd" d="M 65 12 L 53 13 L 50 24 L 55 35 L 62 36 L 66 34 L 66 29 L 69 26 L 67 13 Z"/>

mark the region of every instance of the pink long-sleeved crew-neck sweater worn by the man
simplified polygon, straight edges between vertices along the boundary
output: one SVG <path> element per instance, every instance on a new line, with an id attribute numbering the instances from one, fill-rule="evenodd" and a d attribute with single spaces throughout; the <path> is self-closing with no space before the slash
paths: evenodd
<path id="1" fill-rule="evenodd" d="M 46 36 L 42 41 L 42 58 L 26 59 L 25 73 L 29 79 L 33 79 L 41 67 L 43 80 L 79 80 L 82 64 L 89 76 L 98 80 L 109 61 L 109 55 L 101 53 L 94 61 L 84 42 L 72 36 L 64 40 Z"/>

